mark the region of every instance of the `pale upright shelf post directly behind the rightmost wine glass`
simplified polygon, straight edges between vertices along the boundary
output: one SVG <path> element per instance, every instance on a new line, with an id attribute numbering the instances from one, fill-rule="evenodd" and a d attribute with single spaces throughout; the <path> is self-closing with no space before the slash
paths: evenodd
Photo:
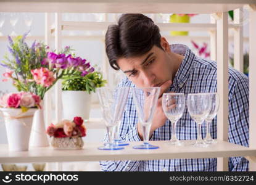
<path id="1" fill-rule="evenodd" d="M 217 138 L 228 141 L 228 13 L 217 20 L 217 89 L 220 94 Z M 218 171 L 228 171 L 228 158 L 218 158 Z"/>

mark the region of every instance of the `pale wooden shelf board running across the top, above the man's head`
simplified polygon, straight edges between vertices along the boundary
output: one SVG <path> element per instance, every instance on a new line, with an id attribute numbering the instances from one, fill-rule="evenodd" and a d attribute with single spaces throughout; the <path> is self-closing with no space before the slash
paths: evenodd
<path id="1" fill-rule="evenodd" d="M 212 14 L 256 0 L 2 0 L 0 12 Z"/>

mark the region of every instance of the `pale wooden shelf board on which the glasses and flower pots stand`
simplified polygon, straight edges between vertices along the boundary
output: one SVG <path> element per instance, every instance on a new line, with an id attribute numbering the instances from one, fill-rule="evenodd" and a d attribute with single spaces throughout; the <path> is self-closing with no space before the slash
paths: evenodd
<path id="1" fill-rule="evenodd" d="M 130 142 L 123 150 L 98 150 L 101 142 L 86 143 L 81 150 L 54 150 L 51 147 L 30 148 L 24 152 L 9 152 L 7 144 L 0 145 L 0 163 L 19 162 L 75 162 L 99 160 L 155 160 L 168 158 L 212 158 L 232 156 L 256 156 L 256 149 L 218 141 L 206 148 L 191 146 L 194 141 L 185 141 L 184 146 L 170 146 L 167 141 L 151 141 L 159 146 L 154 150 L 138 150 L 132 147 L 142 142 Z"/>

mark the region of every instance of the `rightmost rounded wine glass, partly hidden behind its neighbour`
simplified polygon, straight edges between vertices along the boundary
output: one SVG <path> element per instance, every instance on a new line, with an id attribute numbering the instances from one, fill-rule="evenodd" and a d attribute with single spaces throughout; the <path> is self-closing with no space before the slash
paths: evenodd
<path id="1" fill-rule="evenodd" d="M 204 141 L 207 144 L 213 144 L 213 143 L 217 143 L 217 141 L 212 139 L 212 137 L 210 135 L 210 123 L 212 122 L 213 118 L 216 117 L 218 108 L 220 107 L 220 96 L 219 96 L 218 92 L 210 92 L 209 96 L 210 96 L 210 100 L 211 100 L 211 104 L 210 104 L 211 108 L 210 108 L 210 113 L 209 113 L 208 117 L 205 119 L 205 121 L 207 122 L 207 127 L 206 127 L 207 134 L 206 134 Z"/>

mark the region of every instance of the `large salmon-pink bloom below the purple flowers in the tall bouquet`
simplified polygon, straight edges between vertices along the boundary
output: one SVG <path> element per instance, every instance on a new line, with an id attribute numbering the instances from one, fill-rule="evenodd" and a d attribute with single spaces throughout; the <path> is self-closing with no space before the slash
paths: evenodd
<path id="1" fill-rule="evenodd" d="M 56 78 L 54 78 L 54 73 L 44 67 L 31 70 L 31 73 L 36 81 L 36 84 L 41 84 L 44 87 L 51 86 L 56 80 Z"/>

